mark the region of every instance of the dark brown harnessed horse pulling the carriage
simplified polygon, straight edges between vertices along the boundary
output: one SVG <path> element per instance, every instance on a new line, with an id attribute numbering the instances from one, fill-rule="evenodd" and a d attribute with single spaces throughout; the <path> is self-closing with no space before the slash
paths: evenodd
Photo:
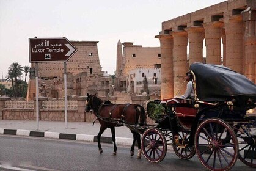
<path id="1" fill-rule="evenodd" d="M 87 93 L 86 99 L 86 112 L 93 112 L 97 116 L 100 122 L 100 131 L 97 135 L 98 139 L 98 150 L 100 154 L 103 153 L 100 144 L 101 134 L 106 130 L 106 128 L 111 129 L 112 142 L 114 144 L 114 151 L 112 155 L 117 155 L 117 145 L 115 143 L 115 127 L 127 126 L 133 134 L 133 144 L 131 145 L 130 155 L 134 155 L 134 145 L 137 140 L 138 153 L 137 158 L 141 158 L 141 136 L 137 131 L 132 130 L 131 125 L 145 126 L 147 116 L 145 114 L 145 109 L 139 104 L 113 104 L 109 100 L 104 101 L 95 95 L 89 95 Z M 95 120 L 96 121 L 96 120 Z M 94 121 L 94 122 L 95 122 Z"/>

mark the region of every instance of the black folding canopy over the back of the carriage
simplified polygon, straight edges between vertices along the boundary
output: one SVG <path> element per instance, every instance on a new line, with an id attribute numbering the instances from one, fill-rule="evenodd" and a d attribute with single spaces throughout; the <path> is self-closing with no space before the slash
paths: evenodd
<path id="1" fill-rule="evenodd" d="M 256 100 L 256 85 L 246 76 L 222 65 L 193 63 L 189 70 L 196 76 L 197 98 L 202 101 L 225 101 L 230 97 Z M 246 98 L 246 99 L 245 99 Z"/>

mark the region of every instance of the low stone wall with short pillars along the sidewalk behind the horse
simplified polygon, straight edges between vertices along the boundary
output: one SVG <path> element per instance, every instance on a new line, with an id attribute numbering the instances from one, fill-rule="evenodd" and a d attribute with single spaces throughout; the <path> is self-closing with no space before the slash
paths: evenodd
<path id="1" fill-rule="evenodd" d="M 116 97 L 100 97 L 101 100 L 110 100 L 115 104 L 125 103 L 122 98 L 117 100 Z M 148 96 L 134 96 L 131 98 L 130 103 L 145 105 L 145 101 L 148 100 Z M 30 109 L 13 109 L 5 108 L 5 101 L 9 101 L 10 98 L 0 97 L 0 120 L 36 120 L 36 101 L 34 99 L 34 107 Z M 65 121 L 64 109 L 44 109 L 42 103 L 48 98 L 40 97 L 39 102 L 39 120 L 45 121 Z M 86 96 L 76 98 L 78 101 L 78 109 L 68 109 L 68 122 L 93 122 L 96 118 L 91 112 L 85 112 Z"/>

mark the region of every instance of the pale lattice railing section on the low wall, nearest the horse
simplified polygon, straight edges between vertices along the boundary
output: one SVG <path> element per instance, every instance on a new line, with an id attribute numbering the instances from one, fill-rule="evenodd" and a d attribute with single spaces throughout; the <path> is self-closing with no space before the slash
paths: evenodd
<path id="1" fill-rule="evenodd" d="M 78 109 L 77 100 L 68 100 L 67 109 Z M 42 103 L 43 109 L 65 109 L 64 100 L 47 100 Z"/>

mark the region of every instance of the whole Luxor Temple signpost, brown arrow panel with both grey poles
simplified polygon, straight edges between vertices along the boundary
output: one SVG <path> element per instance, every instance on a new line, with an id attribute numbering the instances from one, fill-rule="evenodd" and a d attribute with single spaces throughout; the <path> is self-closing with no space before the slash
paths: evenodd
<path id="1" fill-rule="evenodd" d="M 37 129 L 39 129 L 38 102 L 38 62 L 64 62 L 65 128 L 68 128 L 67 115 L 67 64 L 78 49 L 67 38 L 29 38 L 29 62 L 35 62 L 35 89 L 37 107 Z"/>

